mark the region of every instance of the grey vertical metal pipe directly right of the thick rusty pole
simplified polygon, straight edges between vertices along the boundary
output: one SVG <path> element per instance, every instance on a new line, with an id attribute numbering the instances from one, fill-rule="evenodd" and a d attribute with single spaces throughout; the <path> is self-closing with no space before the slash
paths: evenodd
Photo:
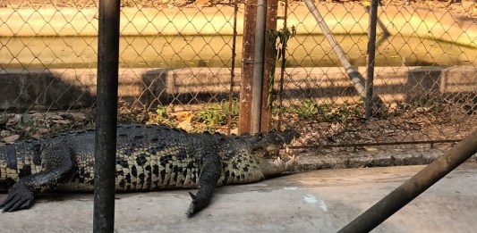
<path id="1" fill-rule="evenodd" d="M 263 61 L 265 53 L 265 23 L 267 18 L 267 1 L 257 1 L 255 24 L 255 49 L 253 55 L 253 83 L 251 87 L 251 133 L 260 132 L 261 92 L 263 89 Z"/>

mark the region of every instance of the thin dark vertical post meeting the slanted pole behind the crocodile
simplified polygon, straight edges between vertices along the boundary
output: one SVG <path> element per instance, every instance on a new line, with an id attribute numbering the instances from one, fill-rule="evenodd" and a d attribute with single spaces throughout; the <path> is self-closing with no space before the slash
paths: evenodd
<path id="1" fill-rule="evenodd" d="M 376 25 L 378 22 L 378 0 L 371 0 L 370 5 L 370 27 L 368 29 L 368 54 L 366 57 L 365 83 L 366 97 L 364 100 L 364 115 L 366 119 L 371 118 L 373 110 L 373 82 L 374 82 L 374 62 L 376 61 Z"/>

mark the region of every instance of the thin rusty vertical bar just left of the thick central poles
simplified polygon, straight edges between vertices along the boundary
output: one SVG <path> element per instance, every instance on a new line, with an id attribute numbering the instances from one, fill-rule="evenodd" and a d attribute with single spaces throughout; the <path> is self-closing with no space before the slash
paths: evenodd
<path id="1" fill-rule="evenodd" d="M 237 56 L 236 43 L 237 43 L 237 12 L 238 12 L 238 0 L 234 0 L 234 35 L 232 37 L 232 64 L 230 66 L 230 89 L 228 92 L 228 119 L 227 119 L 227 135 L 230 135 L 232 128 L 232 114 L 233 114 L 233 102 L 234 102 L 234 80 L 235 80 L 235 57 Z"/>

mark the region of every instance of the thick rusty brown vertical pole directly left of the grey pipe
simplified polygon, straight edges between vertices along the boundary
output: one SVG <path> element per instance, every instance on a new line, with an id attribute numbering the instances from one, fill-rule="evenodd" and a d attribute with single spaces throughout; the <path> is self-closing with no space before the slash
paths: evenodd
<path id="1" fill-rule="evenodd" d="M 245 0 L 243 13 L 242 85 L 240 89 L 238 133 L 251 130 L 251 86 L 253 75 L 253 53 L 255 48 L 255 16 L 257 0 Z"/>

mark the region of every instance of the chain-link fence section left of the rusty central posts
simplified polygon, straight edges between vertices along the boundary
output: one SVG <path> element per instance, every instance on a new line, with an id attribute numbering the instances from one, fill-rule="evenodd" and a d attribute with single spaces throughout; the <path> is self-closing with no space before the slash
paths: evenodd
<path id="1" fill-rule="evenodd" d="M 95 113 L 98 1 L 0 6 L 4 140 L 88 127 Z M 141 0 L 122 6 L 119 121 L 224 129 L 232 64 L 240 61 L 234 46 L 242 43 L 234 37 L 234 7 Z"/>

